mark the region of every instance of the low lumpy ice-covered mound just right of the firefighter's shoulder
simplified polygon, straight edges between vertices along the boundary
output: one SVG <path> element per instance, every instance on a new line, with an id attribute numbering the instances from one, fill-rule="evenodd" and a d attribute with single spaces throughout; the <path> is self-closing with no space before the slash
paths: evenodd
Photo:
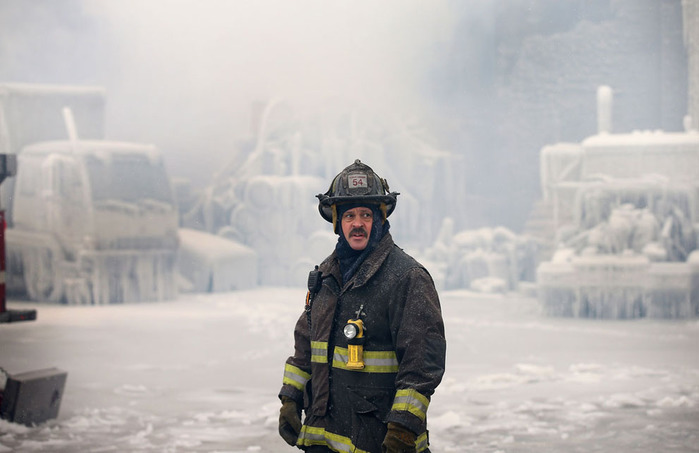
<path id="1" fill-rule="evenodd" d="M 534 281 L 537 257 L 538 241 L 532 238 L 505 227 L 454 233 L 450 218 L 424 253 L 438 286 L 479 292 L 506 292 L 521 282 Z"/>

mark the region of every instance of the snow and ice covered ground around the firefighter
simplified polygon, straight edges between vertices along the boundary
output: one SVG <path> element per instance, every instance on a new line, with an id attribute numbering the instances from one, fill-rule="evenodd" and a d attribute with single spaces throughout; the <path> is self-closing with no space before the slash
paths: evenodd
<path id="1" fill-rule="evenodd" d="M 277 391 L 303 288 L 36 305 L 0 366 L 68 372 L 57 419 L 0 421 L 0 452 L 284 452 Z M 432 451 L 699 451 L 699 321 L 547 318 L 535 299 L 441 294 Z"/>

